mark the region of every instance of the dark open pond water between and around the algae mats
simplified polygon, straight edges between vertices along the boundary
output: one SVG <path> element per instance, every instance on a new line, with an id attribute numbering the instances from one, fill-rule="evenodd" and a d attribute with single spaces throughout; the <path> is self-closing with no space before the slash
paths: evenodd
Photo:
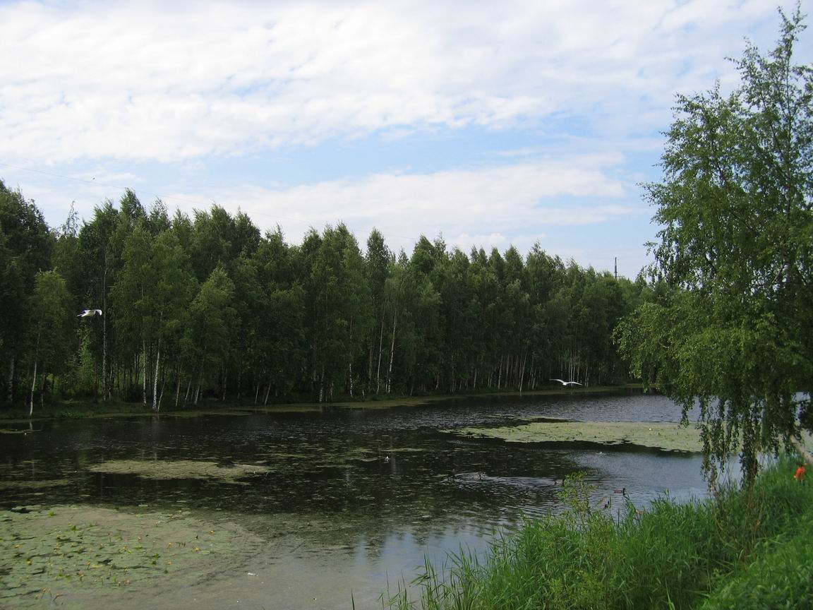
<path id="1" fill-rule="evenodd" d="M 0 438 L 0 508 L 183 509 L 233 521 L 267 542 L 233 573 L 195 591 L 165 591 L 176 608 L 350 608 L 351 591 L 356 608 L 367 608 L 380 607 L 388 582 L 394 590 L 415 577 L 425 555 L 442 560 L 461 545 L 482 550 L 498 529 L 560 510 L 556 481 L 570 473 L 584 472 L 597 486 L 595 502 L 612 500 L 614 509 L 622 488 L 641 505 L 667 492 L 679 500 L 705 492 L 696 454 L 441 432 L 537 416 L 678 421 L 680 408 L 661 396 L 574 393 L 376 411 L 35 422 L 29 434 Z M 218 481 L 89 471 L 108 460 L 257 464 L 267 472 Z M 128 595 L 121 608 L 136 607 Z"/>

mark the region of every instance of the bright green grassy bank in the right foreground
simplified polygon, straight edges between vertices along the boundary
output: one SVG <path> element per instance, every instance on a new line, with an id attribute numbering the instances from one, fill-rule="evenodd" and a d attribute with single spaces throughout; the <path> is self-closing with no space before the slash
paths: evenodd
<path id="1" fill-rule="evenodd" d="M 462 551 L 426 564 L 420 599 L 402 587 L 390 608 L 813 608 L 813 481 L 783 458 L 751 494 L 628 504 L 621 516 L 589 507 L 576 477 L 570 510 L 528 521 L 485 556 Z"/>

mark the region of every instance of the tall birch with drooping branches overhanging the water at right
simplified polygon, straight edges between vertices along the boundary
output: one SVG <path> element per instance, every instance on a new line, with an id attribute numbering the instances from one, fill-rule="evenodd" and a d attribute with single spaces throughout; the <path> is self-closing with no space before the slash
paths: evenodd
<path id="1" fill-rule="evenodd" d="M 620 327 L 633 372 L 686 416 L 699 403 L 704 468 L 757 457 L 797 432 L 813 373 L 813 71 L 793 63 L 797 7 L 768 54 L 748 45 L 741 84 L 677 99 L 663 181 L 646 185 L 669 286 Z"/>

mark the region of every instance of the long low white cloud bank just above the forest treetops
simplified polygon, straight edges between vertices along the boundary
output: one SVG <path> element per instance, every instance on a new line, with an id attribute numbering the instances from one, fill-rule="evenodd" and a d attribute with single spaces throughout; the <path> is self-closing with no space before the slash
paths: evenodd
<path id="1" fill-rule="evenodd" d="M 637 193 L 629 193 L 611 175 L 621 161 L 583 155 L 427 174 L 382 173 L 286 190 L 245 185 L 214 194 L 214 199 L 229 211 L 239 207 L 263 230 L 280 224 L 293 242 L 311 226 L 321 230 L 341 221 L 361 242 L 376 227 L 395 250 L 411 250 L 421 234 L 441 233 L 463 251 L 472 246 L 504 249 L 516 241 L 512 236 L 524 236 L 522 245 L 530 246 L 552 227 L 640 215 Z M 191 203 L 207 201 L 194 193 L 164 200 L 188 212 L 207 207 Z"/>

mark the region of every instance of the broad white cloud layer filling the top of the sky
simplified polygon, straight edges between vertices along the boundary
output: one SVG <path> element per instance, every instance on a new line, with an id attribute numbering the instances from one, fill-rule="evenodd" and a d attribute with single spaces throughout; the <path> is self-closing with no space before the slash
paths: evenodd
<path id="1" fill-rule="evenodd" d="M 0 158 L 156 159 L 580 115 L 663 127 L 773 2 L 11 2 Z M 610 117 L 613 117 L 610 120 Z"/>

